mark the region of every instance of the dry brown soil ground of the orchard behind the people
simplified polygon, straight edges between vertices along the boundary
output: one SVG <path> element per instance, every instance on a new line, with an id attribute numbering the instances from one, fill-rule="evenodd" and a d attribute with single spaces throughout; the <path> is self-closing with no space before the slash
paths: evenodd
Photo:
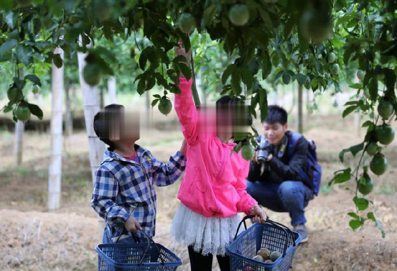
<path id="1" fill-rule="evenodd" d="M 312 116 L 305 132 L 318 146 L 323 166 L 323 188 L 307 208 L 309 242 L 299 245 L 293 261 L 298 271 L 395 270 L 397 268 L 397 197 L 395 171 L 397 144 L 392 143 L 385 155 L 389 169 L 374 177 L 375 188 L 369 198 L 374 212 L 386 232 L 381 238 L 373 222 L 353 232 L 347 212 L 354 211 L 352 194 L 347 185 L 328 187 L 335 170 L 353 166 L 356 159 L 346 156 L 338 160 L 341 149 L 360 143 L 361 135 L 353 129 L 352 119 L 340 121 L 339 116 Z M 139 144 L 167 161 L 179 149 L 182 135 L 164 124 L 162 130 L 143 134 Z M 165 130 L 163 130 L 165 129 Z M 93 248 L 100 243 L 100 230 L 95 213 L 89 207 L 90 180 L 88 144 L 84 132 L 73 134 L 64 146 L 62 173 L 62 208 L 49 212 L 47 182 L 50 137 L 48 134 L 25 134 L 24 163 L 14 166 L 13 135 L 0 133 L 0 270 L 95 270 L 97 255 Z M 369 160 L 367 161 L 369 163 Z M 182 259 L 178 270 L 189 270 L 187 251 L 170 244 L 169 228 L 179 201 L 176 199 L 180 181 L 157 188 L 158 214 L 155 240 L 171 248 Z M 289 225 L 285 213 L 266 213 L 276 221 Z M 364 214 L 366 211 L 364 212 Z M 218 270 L 214 261 L 214 270 Z"/>

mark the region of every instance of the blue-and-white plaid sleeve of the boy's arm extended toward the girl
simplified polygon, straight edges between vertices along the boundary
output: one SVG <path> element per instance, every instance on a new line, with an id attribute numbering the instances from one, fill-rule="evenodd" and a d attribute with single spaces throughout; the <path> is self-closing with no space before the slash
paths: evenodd
<path id="1" fill-rule="evenodd" d="M 176 182 L 182 175 L 186 166 L 186 157 L 179 151 L 169 158 L 168 164 L 162 163 L 150 155 L 152 158 L 153 183 L 156 186 L 167 186 Z"/>

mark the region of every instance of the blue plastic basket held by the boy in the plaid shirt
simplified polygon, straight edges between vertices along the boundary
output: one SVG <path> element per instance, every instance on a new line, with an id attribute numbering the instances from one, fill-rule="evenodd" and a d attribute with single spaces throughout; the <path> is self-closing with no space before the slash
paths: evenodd
<path id="1" fill-rule="evenodd" d="M 147 243 L 100 244 L 98 271 L 175 271 L 182 264 L 172 251 L 157 244 L 144 231 Z"/>

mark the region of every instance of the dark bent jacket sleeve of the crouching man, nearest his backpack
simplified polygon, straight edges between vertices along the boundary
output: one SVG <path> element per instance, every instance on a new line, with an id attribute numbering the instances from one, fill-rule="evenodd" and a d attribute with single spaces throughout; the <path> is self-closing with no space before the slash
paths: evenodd
<path id="1" fill-rule="evenodd" d="M 283 180 L 294 181 L 299 179 L 299 171 L 307 160 L 308 142 L 302 137 L 297 141 L 294 153 L 288 164 L 282 163 L 276 156 L 268 162 L 274 171 Z"/>

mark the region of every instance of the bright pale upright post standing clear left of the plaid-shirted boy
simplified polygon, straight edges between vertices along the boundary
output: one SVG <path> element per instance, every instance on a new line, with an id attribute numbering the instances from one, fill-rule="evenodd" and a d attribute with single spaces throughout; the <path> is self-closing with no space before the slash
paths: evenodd
<path id="1" fill-rule="evenodd" d="M 63 50 L 56 48 L 54 54 Z M 58 209 L 61 204 L 61 176 L 62 176 L 62 103 L 63 103 L 63 70 L 52 63 L 52 109 L 51 109 L 51 153 L 48 169 L 48 209 Z"/>

